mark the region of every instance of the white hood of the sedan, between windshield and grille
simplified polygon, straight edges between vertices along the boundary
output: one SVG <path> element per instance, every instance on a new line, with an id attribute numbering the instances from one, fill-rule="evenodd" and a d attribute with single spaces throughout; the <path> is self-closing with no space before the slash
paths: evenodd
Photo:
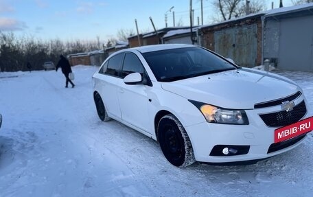
<path id="1" fill-rule="evenodd" d="M 233 109 L 251 109 L 257 103 L 277 100 L 300 90 L 288 78 L 246 68 L 162 82 L 161 86 L 188 100 Z"/>

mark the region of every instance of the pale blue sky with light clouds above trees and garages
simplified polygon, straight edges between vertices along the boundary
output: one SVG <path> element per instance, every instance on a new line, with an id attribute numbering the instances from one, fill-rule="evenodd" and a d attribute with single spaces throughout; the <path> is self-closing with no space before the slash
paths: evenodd
<path id="1" fill-rule="evenodd" d="M 213 0 L 203 1 L 204 24 L 208 24 L 214 10 Z M 275 8 L 279 0 L 273 0 Z M 264 0 L 268 9 L 272 0 Z M 291 5 L 291 0 L 284 0 L 284 5 Z M 120 29 L 134 32 L 135 19 L 139 32 L 152 31 L 149 17 L 152 16 L 157 29 L 167 24 L 181 21 L 189 25 L 189 0 L 0 0 L 0 30 L 14 32 L 16 35 L 27 34 L 40 39 L 60 38 L 62 40 L 106 40 L 115 36 Z M 194 16 L 200 16 L 200 0 L 193 1 Z M 197 23 L 197 20 L 195 20 Z"/>

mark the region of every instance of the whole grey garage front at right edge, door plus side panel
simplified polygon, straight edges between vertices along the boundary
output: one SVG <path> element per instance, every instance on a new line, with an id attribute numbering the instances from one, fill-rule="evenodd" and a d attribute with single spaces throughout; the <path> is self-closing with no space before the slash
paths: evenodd
<path id="1" fill-rule="evenodd" d="M 266 19 L 264 58 L 278 69 L 313 71 L 313 16 Z"/>

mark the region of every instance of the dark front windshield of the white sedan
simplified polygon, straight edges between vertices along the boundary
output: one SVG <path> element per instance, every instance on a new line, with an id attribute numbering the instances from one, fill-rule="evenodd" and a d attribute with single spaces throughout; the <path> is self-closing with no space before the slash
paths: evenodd
<path id="1" fill-rule="evenodd" d="M 143 53 L 156 80 L 172 82 L 237 69 L 227 60 L 201 47 L 185 47 Z"/>

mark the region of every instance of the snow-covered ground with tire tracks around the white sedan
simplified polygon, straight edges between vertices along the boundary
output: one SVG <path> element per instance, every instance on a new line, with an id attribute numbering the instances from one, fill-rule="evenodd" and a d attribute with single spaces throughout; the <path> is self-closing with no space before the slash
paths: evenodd
<path id="1" fill-rule="evenodd" d="M 92 97 L 97 67 L 0 73 L 0 196 L 312 196 L 313 135 L 255 165 L 195 163 L 180 169 L 156 141 L 102 122 Z M 303 88 L 313 108 L 313 73 L 276 71 Z"/>

